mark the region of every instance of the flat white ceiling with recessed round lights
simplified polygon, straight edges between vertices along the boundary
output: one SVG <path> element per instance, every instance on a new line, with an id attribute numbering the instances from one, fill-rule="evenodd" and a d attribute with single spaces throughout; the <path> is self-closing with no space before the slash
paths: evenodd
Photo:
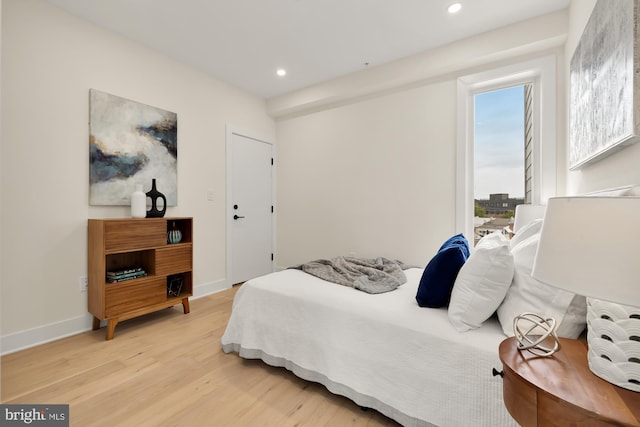
<path id="1" fill-rule="evenodd" d="M 568 7 L 570 0 L 48 0 L 271 98 Z M 278 68 L 287 75 L 276 76 Z"/>

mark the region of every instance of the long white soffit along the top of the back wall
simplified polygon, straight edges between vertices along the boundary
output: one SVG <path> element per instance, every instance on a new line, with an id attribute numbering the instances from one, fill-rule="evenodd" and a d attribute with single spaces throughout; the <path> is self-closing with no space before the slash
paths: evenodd
<path id="1" fill-rule="evenodd" d="M 567 19 L 568 11 L 561 10 L 274 97 L 267 100 L 267 112 L 287 119 L 511 58 L 545 55 L 566 42 Z"/>

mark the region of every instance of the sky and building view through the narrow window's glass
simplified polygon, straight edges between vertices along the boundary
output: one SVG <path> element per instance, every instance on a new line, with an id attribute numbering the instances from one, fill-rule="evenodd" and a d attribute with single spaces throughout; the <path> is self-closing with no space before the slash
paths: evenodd
<path id="1" fill-rule="evenodd" d="M 525 203 L 528 86 L 474 97 L 475 243 L 496 230 L 508 233 L 515 207 Z"/>

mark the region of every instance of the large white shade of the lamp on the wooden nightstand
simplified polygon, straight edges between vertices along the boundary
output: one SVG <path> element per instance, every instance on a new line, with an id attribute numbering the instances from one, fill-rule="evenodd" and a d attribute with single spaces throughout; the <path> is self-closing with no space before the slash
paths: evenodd
<path id="1" fill-rule="evenodd" d="M 549 199 L 532 276 L 578 295 L 640 306 L 640 197 Z"/>

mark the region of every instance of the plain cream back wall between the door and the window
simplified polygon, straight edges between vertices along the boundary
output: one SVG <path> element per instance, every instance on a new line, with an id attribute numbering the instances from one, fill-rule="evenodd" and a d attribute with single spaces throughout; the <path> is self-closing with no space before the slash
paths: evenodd
<path id="1" fill-rule="evenodd" d="M 422 265 L 455 227 L 455 82 L 278 123 L 277 263 Z"/>

